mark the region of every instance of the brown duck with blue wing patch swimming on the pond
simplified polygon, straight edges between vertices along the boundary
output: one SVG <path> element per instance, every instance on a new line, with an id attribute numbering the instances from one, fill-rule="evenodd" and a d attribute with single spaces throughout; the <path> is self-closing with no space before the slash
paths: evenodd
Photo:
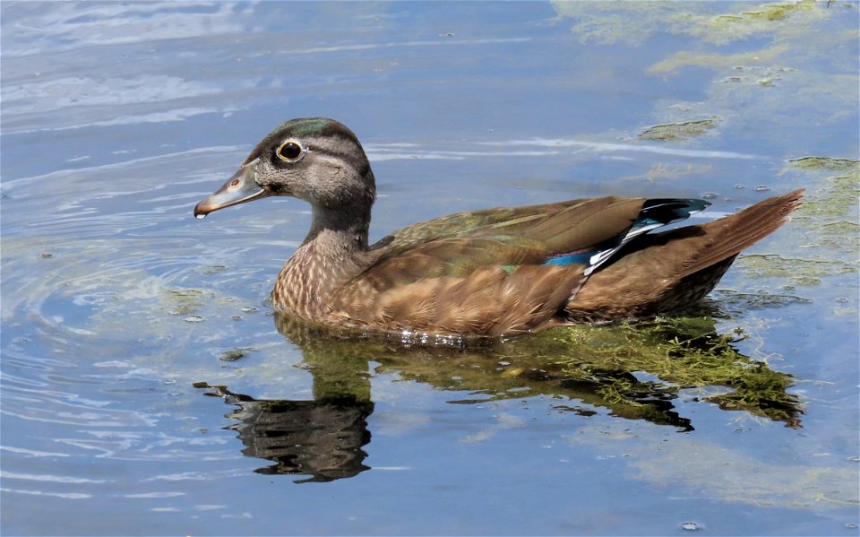
<path id="1" fill-rule="evenodd" d="M 606 196 L 458 212 L 370 244 L 376 184 L 356 134 L 290 119 L 194 207 L 269 196 L 311 205 L 310 230 L 281 268 L 271 304 L 303 322 L 385 333 L 497 338 L 695 307 L 745 248 L 777 230 L 804 190 L 696 225 L 702 199 Z"/>

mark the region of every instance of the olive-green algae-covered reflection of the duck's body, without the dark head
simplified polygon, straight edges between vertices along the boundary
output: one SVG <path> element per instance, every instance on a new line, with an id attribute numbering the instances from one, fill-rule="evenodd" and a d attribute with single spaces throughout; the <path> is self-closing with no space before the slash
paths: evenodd
<path id="1" fill-rule="evenodd" d="M 369 394 L 366 364 L 440 389 L 468 392 L 460 403 L 564 397 L 631 420 L 692 429 L 671 403 L 683 390 L 725 388 L 702 398 L 725 410 L 799 425 L 803 412 L 788 393 L 793 378 L 735 349 L 746 334 L 719 334 L 710 317 L 685 316 L 635 324 L 574 325 L 508 341 L 440 345 L 402 336 L 332 332 L 276 316 L 280 333 L 298 344 L 314 385 Z M 648 378 L 642 378 L 645 374 Z M 314 389 L 316 391 L 316 388 Z M 369 395 L 368 395 L 369 396 Z"/>

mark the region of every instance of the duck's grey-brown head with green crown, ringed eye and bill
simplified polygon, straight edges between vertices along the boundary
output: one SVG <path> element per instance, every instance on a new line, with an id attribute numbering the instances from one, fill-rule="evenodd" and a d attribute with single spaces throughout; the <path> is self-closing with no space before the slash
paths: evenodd
<path id="1" fill-rule="evenodd" d="M 305 200 L 314 212 L 369 212 L 376 186 L 365 151 L 346 126 L 323 117 L 290 119 L 257 143 L 233 177 L 194 207 L 194 216 L 270 195 Z"/>

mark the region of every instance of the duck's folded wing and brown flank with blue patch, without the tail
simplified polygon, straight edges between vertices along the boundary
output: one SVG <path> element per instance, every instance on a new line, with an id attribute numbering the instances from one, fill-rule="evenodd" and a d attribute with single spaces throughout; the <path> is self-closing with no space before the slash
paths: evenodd
<path id="1" fill-rule="evenodd" d="M 342 315 L 391 330 L 499 335 L 546 327 L 589 273 L 699 200 L 606 197 L 462 212 L 395 232 L 338 293 Z"/>

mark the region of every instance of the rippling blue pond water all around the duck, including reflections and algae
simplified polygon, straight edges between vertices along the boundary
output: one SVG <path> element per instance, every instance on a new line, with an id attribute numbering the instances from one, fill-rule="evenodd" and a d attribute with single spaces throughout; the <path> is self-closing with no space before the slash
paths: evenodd
<path id="1" fill-rule="evenodd" d="M 4 534 L 857 533 L 857 4 L 0 9 Z M 192 215 L 308 116 L 364 143 L 372 239 L 809 203 L 692 325 L 332 339 L 267 302 L 305 204 Z M 770 392 L 679 365 L 699 347 L 646 365 L 678 333 Z"/>

